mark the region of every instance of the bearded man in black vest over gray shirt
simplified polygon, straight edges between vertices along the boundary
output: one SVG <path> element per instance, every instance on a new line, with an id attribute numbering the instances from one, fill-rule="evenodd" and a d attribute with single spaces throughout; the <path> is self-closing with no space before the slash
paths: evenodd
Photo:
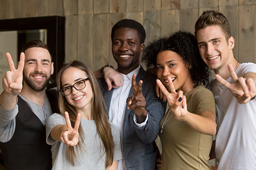
<path id="1" fill-rule="evenodd" d="M 41 40 L 25 44 L 15 70 L 3 77 L 0 96 L 0 148 L 5 169 L 51 169 L 51 146 L 46 144 L 45 123 L 57 111 L 56 90 L 46 90 L 53 63 Z"/>

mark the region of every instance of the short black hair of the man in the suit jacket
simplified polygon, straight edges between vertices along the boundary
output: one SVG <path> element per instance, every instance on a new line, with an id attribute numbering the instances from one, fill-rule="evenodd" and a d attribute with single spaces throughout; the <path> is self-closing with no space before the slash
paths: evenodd
<path id="1" fill-rule="evenodd" d="M 136 31 L 138 31 L 139 36 L 140 36 L 140 44 L 143 44 L 146 38 L 146 31 L 144 27 L 137 21 L 135 20 L 130 20 L 130 19 L 124 19 L 121 21 L 118 21 L 112 28 L 111 30 L 111 41 L 113 42 L 113 37 L 114 33 L 117 29 L 120 28 L 131 28 Z"/>

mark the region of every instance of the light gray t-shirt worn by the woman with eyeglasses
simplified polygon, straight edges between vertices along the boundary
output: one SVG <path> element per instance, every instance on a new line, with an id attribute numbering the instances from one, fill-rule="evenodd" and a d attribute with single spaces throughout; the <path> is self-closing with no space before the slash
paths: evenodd
<path id="1" fill-rule="evenodd" d="M 115 142 L 114 161 L 122 159 L 121 142 L 119 131 L 116 126 L 109 122 L 113 139 Z M 46 142 L 52 145 L 52 169 L 102 169 L 105 170 L 106 154 L 102 156 L 104 146 L 97 133 L 95 121 L 84 120 L 81 118 L 81 125 L 84 131 L 85 151 L 78 154 L 81 164 L 76 163 L 75 166 L 69 163 L 66 156 L 67 146 L 55 141 L 51 138 L 50 133 L 52 128 L 58 124 L 66 124 L 65 117 L 61 114 L 54 113 L 46 122 Z M 101 157 L 102 156 L 102 157 Z"/>

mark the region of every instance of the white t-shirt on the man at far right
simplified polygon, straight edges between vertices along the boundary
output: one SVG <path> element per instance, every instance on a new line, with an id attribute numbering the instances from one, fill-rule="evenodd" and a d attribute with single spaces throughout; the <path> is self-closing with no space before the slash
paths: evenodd
<path id="1" fill-rule="evenodd" d="M 256 73 L 256 64 L 242 63 L 236 74 Z M 233 83 L 230 78 L 228 82 Z M 217 107 L 217 135 L 215 153 L 218 169 L 256 169 L 256 99 L 239 104 L 229 89 L 216 79 L 208 87 Z"/>

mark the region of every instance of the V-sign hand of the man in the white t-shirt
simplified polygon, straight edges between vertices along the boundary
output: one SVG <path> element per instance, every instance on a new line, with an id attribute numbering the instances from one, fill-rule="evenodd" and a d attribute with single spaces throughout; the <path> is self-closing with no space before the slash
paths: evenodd
<path id="1" fill-rule="evenodd" d="M 229 83 L 219 74 L 215 78 L 237 98 L 239 104 L 248 103 L 256 95 L 256 87 L 252 78 L 238 78 L 232 65 L 228 65 L 230 76 L 234 83 Z M 253 74 L 253 73 L 252 73 Z"/>

